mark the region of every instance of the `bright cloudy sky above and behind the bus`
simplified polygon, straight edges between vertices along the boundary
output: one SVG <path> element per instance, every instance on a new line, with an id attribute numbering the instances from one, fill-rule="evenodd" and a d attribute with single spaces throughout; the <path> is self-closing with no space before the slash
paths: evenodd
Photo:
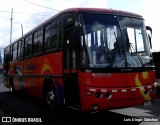
<path id="1" fill-rule="evenodd" d="M 19 38 L 22 31 L 25 34 L 59 11 L 72 7 L 107 8 L 140 14 L 145 25 L 152 27 L 152 50 L 160 51 L 158 0 L 0 0 L 0 48 L 7 46 L 10 38 L 11 42 Z"/>

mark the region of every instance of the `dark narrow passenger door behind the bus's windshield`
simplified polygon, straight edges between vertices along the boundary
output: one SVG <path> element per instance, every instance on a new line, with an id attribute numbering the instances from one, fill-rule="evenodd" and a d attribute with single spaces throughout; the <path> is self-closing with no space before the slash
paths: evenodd
<path id="1" fill-rule="evenodd" d="M 77 49 L 75 40 L 73 40 L 74 32 L 74 27 L 65 28 L 63 32 L 64 96 L 65 103 L 69 106 L 79 103 Z"/>

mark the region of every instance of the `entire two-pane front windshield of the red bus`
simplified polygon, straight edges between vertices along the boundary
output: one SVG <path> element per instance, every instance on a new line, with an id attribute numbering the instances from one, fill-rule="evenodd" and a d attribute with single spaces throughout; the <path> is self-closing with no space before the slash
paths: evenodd
<path id="1" fill-rule="evenodd" d="M 140 18 L 84 13 L 80 15 L 81 67 L 152 67 L 144 21 Z"/>

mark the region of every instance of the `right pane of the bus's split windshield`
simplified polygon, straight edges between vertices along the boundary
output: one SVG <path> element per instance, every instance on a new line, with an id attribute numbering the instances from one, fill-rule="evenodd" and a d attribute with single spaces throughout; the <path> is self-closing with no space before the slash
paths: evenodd
<path id="1" fill-rule="evenodd" d="M 152 67 L 144 21 L 131 17 L 119 17 L 127 62 L 131 67 Z"/>

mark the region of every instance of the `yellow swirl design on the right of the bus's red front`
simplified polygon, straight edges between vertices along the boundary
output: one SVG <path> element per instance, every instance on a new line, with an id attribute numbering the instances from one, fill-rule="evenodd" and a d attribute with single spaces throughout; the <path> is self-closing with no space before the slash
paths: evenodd
<path id="1" fill-rule="evenodd" d="M 143 72 L 142 73 L 142 77 L 143 77 L 143 79 L 148 79 L 148 72 Z M 137 73 L 137 75 L 136 75 L 136 77 L 135 77 L 135 83 L 136 83 L 136 86 L 142 86 L 142 83 L 140 82 L 140 80 L 139 80 L 139 77 L 138 77 L 138 73 Z M 148 94 L 144 94 L 144 88 L 143 89 L 140 89 L 140 92 L 141 92 L 141 94 L 142 94 L 142 96 L 143 96 L 143 98 L 145 99 L 145 100 L 151 100 L 151 97 L 148 95 Z"/>

